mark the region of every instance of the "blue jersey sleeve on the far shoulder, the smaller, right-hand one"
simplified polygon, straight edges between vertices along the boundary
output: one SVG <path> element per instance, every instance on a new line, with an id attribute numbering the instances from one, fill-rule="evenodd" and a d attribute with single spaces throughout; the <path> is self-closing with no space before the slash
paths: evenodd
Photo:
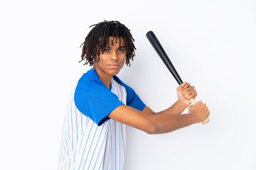
<path id="1" fill-rule="evenodd" d="M 127 106 L 131 106 L 132 108 L 136 108 L 139 111 L 143 111 L 143 109 L 145 108 L 146 105 L 139 98 L 139 96 L 135 93 L 135 91 L 127 84 L 124 84 L 124 82 L 122 82 L 118 77 L 114 76 L 114 79 L 119 84 L 124 86 L 124 89 L 127 92 Z"/>

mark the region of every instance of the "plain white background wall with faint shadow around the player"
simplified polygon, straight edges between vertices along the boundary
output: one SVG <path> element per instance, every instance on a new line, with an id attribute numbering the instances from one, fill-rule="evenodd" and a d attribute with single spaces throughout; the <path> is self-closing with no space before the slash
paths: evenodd
<path id="1" fill-rule="evenodd" d="M 210 123 L 164 135 L 127 128 L 124 169 L 256 169 L 256 1 L 1 1 L 0 169 L 56 169 L 66 103 L 90 67 L 80 44 L 118 20 L 137 47 L 119 78 L 161 111 L 178 84 L 146 39 L 154 30 Z M 185 113 L 187 110 L 185 111 Z"/>

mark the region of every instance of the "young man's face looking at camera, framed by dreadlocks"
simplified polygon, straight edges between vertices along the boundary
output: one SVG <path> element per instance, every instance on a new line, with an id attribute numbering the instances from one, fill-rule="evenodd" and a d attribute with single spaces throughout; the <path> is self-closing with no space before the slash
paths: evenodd
<path id="1" fill-rule="evenodd" d="M 110 41 L 111 41 L 110 37 Z M 110 47 L 105 47 L 105 50 L 100 51 L 100 61 L 95 62 L 93 68 L 97 70 L 97 73 L 101 76 L 114 76 L 119 73 L 119 71 L 124 66 L 125 57 L 126 57 L 126 50 L 124 47 L 124 38 L 120 38 L 121 43 L 119 45 L 119 38 L 117 38 L 117 42 Z M 111 42 L 110 42 L 111 45 Z M 98 61 L 97 56 L 97 61 Z"/>

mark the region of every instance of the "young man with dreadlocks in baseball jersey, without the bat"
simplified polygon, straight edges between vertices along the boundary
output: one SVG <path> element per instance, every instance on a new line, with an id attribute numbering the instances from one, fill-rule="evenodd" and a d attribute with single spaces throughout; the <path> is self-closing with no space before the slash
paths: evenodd
<path id="1" fill-rule="evenodd" d="M 201 101 L 189 106 L 196 90 L 184 82 L 178 101 L 154 113 L 116 75 L 134 57 L 134 39 L 118 21 L 94 25 L 85 38 L 82 60 L 92 69 L 82 75 L 70 96 L 60 145 L 58 169 L 123 169 L 125 125 L 149 134 L 200 123 L 209 111 Z M 181 114 L 185 108 L 187 114 Z"/>

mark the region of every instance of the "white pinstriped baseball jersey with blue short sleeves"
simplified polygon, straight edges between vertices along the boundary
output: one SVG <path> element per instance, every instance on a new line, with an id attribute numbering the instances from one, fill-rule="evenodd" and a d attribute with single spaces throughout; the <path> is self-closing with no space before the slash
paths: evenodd
<path id="1" fill-rule="evenodd" d="M 82 75 L 65 113 L 58 169 L 123 169 L 125 125 L 107 117 L 122 104 L 145 107 L 118 77 L 107 89 L 95 69 Z"/>

